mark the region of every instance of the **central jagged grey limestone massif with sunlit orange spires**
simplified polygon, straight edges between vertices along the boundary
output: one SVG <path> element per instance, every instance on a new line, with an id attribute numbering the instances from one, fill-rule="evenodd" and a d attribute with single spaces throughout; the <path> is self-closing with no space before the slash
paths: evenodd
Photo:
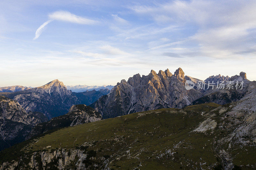
<path id="1" fill-rule="evenodd" d="M 122 80 L 91 106 L 111 118 L 158 108 L 182 108 L 200 98 L 202 92 L 185 89 L 185 76 L 181 68 L 172 73 L 167 69 L 158 74 L 151 70 L 148 76 L 136 74 L 128 81 Z"/>

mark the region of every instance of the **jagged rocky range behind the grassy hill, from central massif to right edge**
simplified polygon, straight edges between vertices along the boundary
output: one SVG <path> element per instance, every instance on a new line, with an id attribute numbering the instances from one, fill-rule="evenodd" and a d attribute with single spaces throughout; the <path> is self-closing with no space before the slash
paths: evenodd
<path id="1" fill-rule="evenodd" d="M 215 102 L 226 104 L 241 99 L 248 88 L 254 82 L 246 79 L 246 74 L 235 76 L 233 80 L 244 80 L 243 90 L 218 90 L 218 89 L 198 89 L 186 90 L 185 81 L 190 80 L 194 83 L 202 81 L 198 78 L 185 76 L 181 68 L 173 74 L 169 69 L 156 73 L 154 70 L 145 76 L 136 74 L 128 81 L 121 80 L 111 90 L 108 95 L 104 95 L 95 101 L 91 107 L 102 114 L 103 118 L 111 118 L 135 112 L 155 110 L 160 108 L 183 108 L 193 104 Z M 228 81 L 228 77 L 211 76 L 208 81 Z M 206 81 L 205 80 L 205 81 Z M 219 95 L 216 97 L 216 95 Z"/>

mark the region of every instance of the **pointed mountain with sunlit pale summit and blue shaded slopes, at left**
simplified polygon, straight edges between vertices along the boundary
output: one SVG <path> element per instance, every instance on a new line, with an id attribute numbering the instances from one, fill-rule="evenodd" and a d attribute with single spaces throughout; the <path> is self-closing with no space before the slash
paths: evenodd
<path id="1" fill-rule="evenodd" d="M 66 114 L 73 105 L 90 105 L 102 95 L 108 94 L 108 91 L 75 93 L 56 79 L 40 87 L 19 92 L 2 92 L 0 95 L 17 100 L 27 112 L 42 112 L 51 119 Z"/>

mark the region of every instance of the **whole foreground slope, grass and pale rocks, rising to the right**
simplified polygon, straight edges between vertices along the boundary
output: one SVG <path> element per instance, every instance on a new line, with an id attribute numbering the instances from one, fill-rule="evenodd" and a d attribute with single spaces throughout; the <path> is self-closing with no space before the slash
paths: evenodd
<path id="1" fill-rule="evenodd" d="M 0 169 L 253 169 L 256 125 L 227 114 L 246 114 L 236 107 L 254 95 L 204 114 L 158 109 L 59 129 L 2 151 Z"/>

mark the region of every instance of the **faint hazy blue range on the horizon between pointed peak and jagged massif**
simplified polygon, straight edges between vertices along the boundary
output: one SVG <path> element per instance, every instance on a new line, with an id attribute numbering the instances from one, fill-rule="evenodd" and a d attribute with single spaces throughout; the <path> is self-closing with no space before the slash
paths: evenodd
<path id="1" fill-rule="evenodd" d="M 88 86 L 88 85 L 67 85 L 66 86 L 68 90 L 72 90 L 72 92 L 85 92 L 85 91 L 91 91 L 91 90 L 100 90 L 100 89 L 109 89 L 111 90 L 114 86 L 113 85 L 102 85 L 102 86 Z"/>

